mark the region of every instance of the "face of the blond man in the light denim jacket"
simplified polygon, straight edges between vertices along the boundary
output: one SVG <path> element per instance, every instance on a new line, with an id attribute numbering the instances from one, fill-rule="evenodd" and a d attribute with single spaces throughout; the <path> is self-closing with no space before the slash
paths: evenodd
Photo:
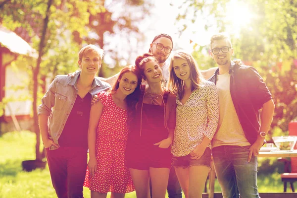
<path id="1" fill-rule="evenodd" d="M 101 66 L 101 58 L 98 53 L 90 51 L 83 56 L 82 60 L 78 61 L 78 65 L 82 74 L 95 75 Z"/>

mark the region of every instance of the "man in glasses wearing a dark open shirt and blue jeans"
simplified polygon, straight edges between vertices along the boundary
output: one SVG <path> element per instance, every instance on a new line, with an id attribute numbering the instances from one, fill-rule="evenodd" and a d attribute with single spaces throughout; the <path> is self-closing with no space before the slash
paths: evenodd
<path id="1" fill-rule="evenodd" d="M 227 36 L 213 35 L 210 47 L 218 66 L 209 79 L 219 95 L 220 119 L 212 139 L 217 179 L 224 198 L 259 198 L 256 156 L 270 128 L 274 103 L 254 67 L 231 61 L 233 48 Z"/>

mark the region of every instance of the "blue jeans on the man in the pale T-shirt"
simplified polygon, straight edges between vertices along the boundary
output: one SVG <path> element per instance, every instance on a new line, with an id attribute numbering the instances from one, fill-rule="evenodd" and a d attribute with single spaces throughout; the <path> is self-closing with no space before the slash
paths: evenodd
<path id="1" fill-rule="evenodd" d="M 213 162 L 224 198 L 260 198 L 257 187 L 257 157 L 247 162 L 249 146 L 218 146 Z"/>

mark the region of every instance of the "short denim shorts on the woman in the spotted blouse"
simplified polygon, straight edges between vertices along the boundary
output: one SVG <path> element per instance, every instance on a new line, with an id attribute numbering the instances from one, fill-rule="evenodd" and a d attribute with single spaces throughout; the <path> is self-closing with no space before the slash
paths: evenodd
<path id="1" fill-rule="evenodd" d="M 200 157 L 200 159 L 191 159 L 191 155 L 186 155 L 182 157 L 172 157 L 172 165 L 174 167 L 183 167 L 188 168 L 190 166 L 208 166 L 210 167 L 210 159 L 211 159 L 211 150 L 209 147 L 207 147 L 203 153 L 203 155 Z"/>

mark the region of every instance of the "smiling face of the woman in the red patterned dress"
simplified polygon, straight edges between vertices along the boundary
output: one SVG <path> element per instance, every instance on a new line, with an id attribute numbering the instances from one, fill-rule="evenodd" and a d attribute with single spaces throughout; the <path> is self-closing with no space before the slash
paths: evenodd
<path id="1" fill-rule="evenodd" d="M 119 79 L 119 88 L 124 95 L 129 95 L 134 92 L 137 87 L 137 76 L 129 71 L 122 75 L 121 79 Z"/>

